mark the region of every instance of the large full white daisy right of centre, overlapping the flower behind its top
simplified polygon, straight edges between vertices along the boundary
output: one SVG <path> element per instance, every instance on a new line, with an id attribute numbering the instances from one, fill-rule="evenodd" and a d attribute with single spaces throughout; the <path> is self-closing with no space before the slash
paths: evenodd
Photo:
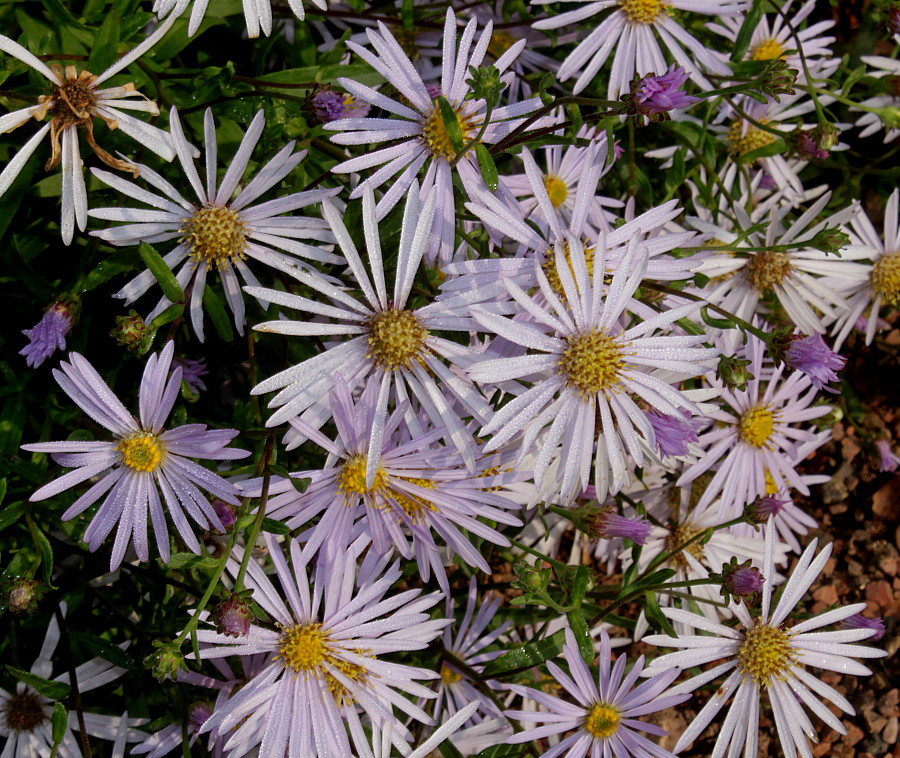
<path id="1" fill-rule="evenodd" d="M 630 455 L 636 466 L 644 463 L 644 446 L 655 447 L 655 434 L 634 397 L 668 415 L 696 405 L 672 384 L 706 370 L 704 362 L 716 351 L 700 347 L 702 336 L 657 336 L 680 318 L 696 310 L 696 303 L 642 313 L 644 320 L 622 326 L 627 310 L 634 311 L 632 296 L 647 270 L 643 244 L 633 238 L 607 286 L 605 240 L 594 252 L 593 272 L 578 239 L 570 238 L 567 258 L 557 244 L 556 272 L 564 293 L 561 301 L 540 264 L 534 264 L 545 304 L 530 298 L 516 284 L 506 282 L 516 302 L 534 323 L 516 321 L 473 308 L 483 329 L 537 353 L 514 358 L 486 359 L 469 369 L 483 384 L 530 379 L 533 386 L 503 406 L 481 430 L 492 434 L 486 451 L 496 450 L 520 431 L 522 450 L 529 450 L 541 431 L 535 461 L 535 483 L 540 488 L 548 465 L 562 444 L 558 469 L 561 502 L 569 503 L 588 486 L 594 461 L 598 495 L 618 492 L 628 478 Z M 594 442 L 597 451 L 594 455 Z"/>

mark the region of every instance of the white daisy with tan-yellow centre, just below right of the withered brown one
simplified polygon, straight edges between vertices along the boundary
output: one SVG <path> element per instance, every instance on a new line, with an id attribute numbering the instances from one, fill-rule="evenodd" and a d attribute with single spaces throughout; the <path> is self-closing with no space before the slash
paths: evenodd
<path id="1" fill-rule="evenodd" d="M 184 135 L 178 112 L 172 108 L 170 128 L 175 151 L 185 178 L 197 196 L 196 202 L 186 200 L 169 182 L 147 166 L 140 166 L 141 175 L 156 192 L 142 189 L 107 171 L 94 170 L 94 175 L 105 184 L 150 208 L 94 208 L 88 214 L 93 218 L 123 224 L 91 233 L 117 246 L 177 240 L 176 246 L 163 260 L 173 270 L 181 266 L 175 278 L 182 289 L 186 290 L 191 285 L 191 324 L 201 342 L 204 338 L 203 293 L 213 269 L 219 272 L 222 279 L 225 299 L 234 314 L 238 334 L 243 334 L 244 298 L 240 279 L 251 286 L 259 286 L 259 281 L 245 262 L 247 258 L 287 273 L 298 268 L 304 271 L 309 268 L 297 256 L 323 263 L 344 262 L 343 258 L 325 252 L 321 247 L 301 241 L 332 242 L 333 237 L 324 221 L 282 215 L 332 197 L 337 194 L 338 189 L 295 192 L 275 200 L 253 204 L 291 173 L 303 160 L 306 151 L 295 153 L 294 143 L 288 143 L 257 171 L 253 179 L 239 189 L 238 184 L 262 136 L 265 123 L 263 112 L 259 111 L 217 187 L 216 131 L 212 111 L 207 109 L 203 120 L 206 141 L 204 182 L 194 165 L 194 149 Z M 124 299 L 126 305 L 131 304 L 155 282 L 153 273 L 145 271 L 126 284 L 115 297 Z M 167 298 L 161 298 L 146 321 L 152 321 L 171 304 Z"/>

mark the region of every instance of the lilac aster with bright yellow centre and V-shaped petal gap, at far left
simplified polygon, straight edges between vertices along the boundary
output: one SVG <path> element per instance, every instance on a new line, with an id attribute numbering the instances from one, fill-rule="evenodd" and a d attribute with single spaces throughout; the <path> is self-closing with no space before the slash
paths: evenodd
<path id="1" fill-rule="evenodd" d="M 200 553 L 200 543 L 185 518 L 186 511 L 201 529 L 225 531 L 218 515 L 198 487 L 232 505 L 238 504 L 232 484 L 190 458 L 235 460 L 246 450 L 227 448 L 237 436 L 234 429 L 208 430 L 205 424 L 187 424 L 163 429 L 172 411 L 181 385 L 181 370 L 169 376 L 174 343 L 153 354 L 144 367 L 140 388 L 140 417 L 135 418 L 103 381 L 93 366 L 78 353 L 70 353 L 71 363 L 63 361 L 62 371 L 53 376 L 63 391 L 97 424 L 112 432 L 112 442 L 40 442 L 23 445 L 34 453 L 51 453 L 53 459 L 74 469 L 45 484 L 31 496 L 32 502 L 46 500 L 88 479 L 100 477 L 63 514 L 67 521 L 106 496 L 84 541 L 96 550 L 118 523 L 110 558 L 110 571 L 122 562 L 125 549 L 133 540 L 141 561 L 150 559 L 147 540 L 147 516 L 153 524 L 156 544 L 164 562 L 169 560 L 169 531 L 163 501 L 178 534 L 187 547 Z M 166 378 L 168 377 L 168 379 Z M 108 494 L 107 494 L 108 493 Z"/>

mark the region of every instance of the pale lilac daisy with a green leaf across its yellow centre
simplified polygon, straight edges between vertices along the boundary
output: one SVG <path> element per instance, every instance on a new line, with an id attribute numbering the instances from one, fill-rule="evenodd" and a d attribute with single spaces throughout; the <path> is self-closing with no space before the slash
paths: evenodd
<path id="1" fill-rule="evenodd" d="M 463 143 L 478 136 L 480 142 L 489 145 L 509 134 L 522 122 L 522 116 L 540 108 L 541 101 L 540 98 L 531 98 L 494 108 L 485 125 L 485 120 L 488 119 L 487 103 L 483 99 L 470 99 L 471 87 L 466 80 L 471 77 L 469 69 L 481 66 L 484 62 L 493 25 L 488 22 L 473 48 L 477 27 L 475 19 L 469 21 L 457 48 L 456 16 L 452 8 L 447 9 L 439 94 L 453 109 Z M 367 188 L 374 190 L 380 187 L 399 174 L 378 201 L 376 210 L 380 220 L 409 191 L 419 171 L 427 166 L 422 189 L 427 192 L 434 187 L 437 203 L 428 258 L 434 260 L 440 257 L 442 262 L 446 262 L 454 250 L 456 229 L 453 173 L 458 172 L 469 194 L 473 188 L 485 187 L 484 180 L 471 150 L 458 163 L 451 164 L 456 150 L 444 126 L 444 119 L 436 102 L 437 96 L 429 91 L 387 27 L 379 22 L 377 31 L 369 29 L 366 33 L 375 48 L 375 54 L 352 42 L 348 42 L 347 46 L 381 74 L 388 84 L 393 85 L 403 96 L 405 104 L 352 79 L 338 79 L 340 85 L 351 95 L 399 118 L 346 118 L 326 124 L 325 129 L 338 132 L 331 137 L 331 141 L 338 145 L 369 145 L 389 140 L 396 142 L 389 147 L 339 163 L 332 171 L 346 174 L 379 167 L 374 174 L 359 183 L 350 194 L 351 199 L 360 197 Z M 525 45 L 524 39 L 519 40 L 492 64 L 498 73 L 502 74 L 509 68 Z M 533 128 L 542 123 L 534 124 Z M 484 132 L 482 126 L 485 127 Z"/>

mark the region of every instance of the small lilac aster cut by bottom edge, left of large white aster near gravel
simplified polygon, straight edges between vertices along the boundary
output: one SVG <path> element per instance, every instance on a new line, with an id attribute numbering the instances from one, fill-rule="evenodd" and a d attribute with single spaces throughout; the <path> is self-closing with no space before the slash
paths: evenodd
<path id="1" fill-rule="evenodd" d="M 664 729 L 641 721 L 640 717 L 671 708 L 690 698 L 687 693 L 672 694 L 671 690 L 666 691 L 681 673 L 679 668 L 669 668 L 635 687 L 638 677 L 644 672 L 644 656 L 638 658 L 626 674 L 627 659 L 624 655 L 616 659 L 615 665 L 612 664 L 612 648 L 605 629 L 600 632 L 596 681 L 581 657 L 575 635 L 568 627 L 563 656 L 569 665 L 569 674 L 552 661 L 547 663 L 547 669 L 577 701 L 577 705 L 532 687 L 507 685 L 517 695 L 533 700 L 549 711 L 506 711 L 510 718 L 544 724 L 507 737 L 507 744 L 516 745 L 572 732 L 555 747 L 542 753 L 542 758 L 557 758 L 563 754 L 566 758 L 673 758 L 668 750 L 639 732 L 664 737 L 667 734 Z"/>

